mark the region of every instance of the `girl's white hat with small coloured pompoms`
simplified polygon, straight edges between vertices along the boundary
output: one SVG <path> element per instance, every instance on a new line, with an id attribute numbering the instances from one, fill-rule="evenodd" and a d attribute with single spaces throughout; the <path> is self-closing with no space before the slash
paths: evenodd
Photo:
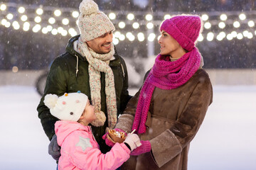
<path id="1" fill-rule="evenodd" d="M 78 121 L 85 110 L 87 101 L 88 97 L 78 91 L 60 97 L 55 94 L 47 94 L 43 102 L 50 108 L 50 113 L 56 118 Z"/>

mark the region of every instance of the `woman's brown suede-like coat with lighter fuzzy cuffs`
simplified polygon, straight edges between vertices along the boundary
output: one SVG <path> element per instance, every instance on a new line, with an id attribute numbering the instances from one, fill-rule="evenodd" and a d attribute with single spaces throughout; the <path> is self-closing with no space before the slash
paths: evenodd
<path id="1" fill-rule="evenodd" d="M 129 101 L 115 128 L 130 132 L 139 93 Z M 188 148 L 213 101 L 213 88 L 204 69 L 177 89 L 154 89 L 141 140 L 151 142 L 151 152 L 131 157 L 122 169 L 187 169 Z"/>

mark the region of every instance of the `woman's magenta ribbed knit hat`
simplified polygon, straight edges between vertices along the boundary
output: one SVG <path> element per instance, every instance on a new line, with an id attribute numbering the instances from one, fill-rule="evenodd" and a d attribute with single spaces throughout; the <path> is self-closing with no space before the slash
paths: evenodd
<path id="1" fill-rule="evenodd" d="M 173 16 L 161 23 L 160 31 L 166 31 L 183 49 L 191 51 L 195 47 L 195 42 L 201 33 L 201 23 L 200 16 Z"/>

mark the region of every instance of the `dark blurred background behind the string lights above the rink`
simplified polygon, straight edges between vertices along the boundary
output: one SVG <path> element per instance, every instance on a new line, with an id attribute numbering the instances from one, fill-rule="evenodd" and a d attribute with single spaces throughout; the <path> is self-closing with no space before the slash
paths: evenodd
<path id="1" fill-rule="evenodd" d="M 78 11 L 78 6 L 81 1 L 70 1 L 70 0 L 54 0 L 54 1 L 30 1 L 30 0 L 18 0 L 18 1 L 2 1 L 5 3 L 16 3 L 17 6 L 28 6 L 29 8 L 38 8 L 39 6 L 47 7 L 51 6 L 53 8 L 60 8 L 60 10 L 65 9 L 68 11 L 63 13 L 63 16 L 70 16 L 69 11 Z M 206 69 L 222 69 L 222 68 L 255 68 L 256 66 L 256 52 L 255 52 L 255 27 L 250 28 L 247 26 L 246 21 L 255 21 L 255 2 L 252 0 L 222 0 L 222 1 L 209 1 L 209 0 L 196 0 L 196 1 L 167 1 L 149 0 L 146 6 L 138 6 L 134 4 L 134 1 L 128 0 L 95 0 L 99 5 L 100 10 L 105 11 L 106 14 L 110 11 L 118 13 L 117 20 L 129 23 L 125 19 L 127 13 L 132 12 L 135 15 L 135 21 L 138 23 L 140 21 L 145 21 L 144 16 L 147 13 L 152 13 L 154 15 L 155 23 L 159 23 L 163 20 L 164 15 L 169 14 L 181 14 L 181 13 L 196 13 L 202 15 L 207 13 L 209 15 L 209 21 L 220 22 L 219 16 L 221 13 L 227 13 L 229 19 L 233 21 L 239 21 L 238 15 L 240 13 L 245 13 L 247 15 L 246 20 L 242 23 L 240 28 L 233 28 L 227 26 L 220 30 L 217 26 L 212 26 L 210 30 L 203 30 L 204 40 L 198 42 L 197 47 L 203 55 L 204 68 Z M 0 1 L 1 5 L 1 1 Z M 5 18 L 6 13 L 13 13 L 14 19 L 18 20 L 19 13 L 17 12 L 18 7 L 7 8 L 5 12 L 0 11 L 0 21 Z M 50 11 L 52 12 L 52 11 Z M 42 15 L 53 15 L 49 11 L 45 11 Z M 32 14 L 28 16 L 35 15 Z M 62 17 L 63 17 L 62 16 Z M 73 21 L 70 20 L 70 25 L 75 28 L 75 18 Z M 33 18 L 31 19 L 33 21 Z M 43 21 L 42 21 L 43 22 Z M 117 26 L 117 21 L 113 21 L 116 30 L 120 30 Z M 78 28 L 76 27 L 77 31 Z M 159 35 L 159 24 L 155 24 L 154 33 L 156 33 L 156 39 L 154 40 L 154 54 L 159 53 L 159 45 L 157 43 L 157 36 Z M 224 38 L 219 41 L 216 38 L 213 41 L 206 40 L 206 34 L 208 32 L 219 33 L 224 31 L 231 33 L 236 30 L 242 33 L 243 30 L 250 30 L 253 33 L 253 38 L 242 38 L 238 40 L 234 38 L 233 40 L 227 40 Z M 140 26 L 138 30 L 134 30 L 131 25 L 122 29 L 122 32 L 132 32 L 137 35 L 138 32 L 146 34 L 145 26 Z M 68 43 L 70 35 L 63 37 L 62 35 L 53 35 L 51 33 L 43 34 L 40 31 L 38 33 L 33 33 L 32 30 L 27 32 L 22 30 L 22 26 L 19 30 L 14 30 L 14 28 L 5 28 L 0 23 L 0 69 L 11 70 L 14 66 L 18 69 L 44 69 L 47 68 L 50 62 L 53 61 L 55 57 L 65 52 L 65 45 Z M 146 37 L 143 42 L 139 42 L 137 38 L 133 42 L 127 40 L 119 41 L 116 45 L 117 51 L 122 57 L 129 60 L 137 60 L 140 58 L 147 57 L 147 42 Z M 136 66 L 135 66 L 136 67 Z M 136 68 L 135 68 L 136 69 Z"/>

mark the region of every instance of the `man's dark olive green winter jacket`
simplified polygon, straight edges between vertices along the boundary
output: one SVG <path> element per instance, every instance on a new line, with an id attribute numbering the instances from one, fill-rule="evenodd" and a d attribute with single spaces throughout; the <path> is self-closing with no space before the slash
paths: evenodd
<path id="1" fill-rule="evenodd" d="M 46 132 L 49 140 L 55 134 L 54 124 L 57 118 L 50 114 L 47 106 L 43 103 L 44 96 L 46 94 L 56 94 L 62 96 L 65 93 L 72 93 L 81 91 L 86 94 L 90 99 L 90 85 L 89 85 L 89 73 L 88 65 L 85 57 L 82 57 L 73 48 L 73 42 L 78 40 L 79 35 L 70 38 L 68 45 L 66 47 L 66 52 L 63 55 L 58 56 L 50 67 L 50 73 L 46 81 L 46 88 L 44 90 L 44 95 L 38 105 L 38 117 L 41 119 L 43 125 L 43 130 Z M 127 67 L 117 53 L 114 54 L 114 60 L 110 61 L 110 67 L 114 74 L 114 87 L 117 96 L 117 114 L 122 113 L 124 108 L 129 101 L 128 89 L 128 74 Z M 78 68 L 77 68 L 78 64 Z M 77 72 L 78 70 L 78 72 Z M 106 95 L 105 95 L 105 73 L 101 72 L 101 110 L 106 114 L 107 117 L 107 105 L 106 105 Z M 117 115 L 117 116 L 118 116 Z M 92 126 L 92 131 L 95 135 L 95 139 L 99 143 L 101 149 L 104 152 L 105 141 L 102 140 L 102 135 L 105 134 L 105 128 L 107 127 L 107 120 L 105 125 L 102 127 Z"/>

